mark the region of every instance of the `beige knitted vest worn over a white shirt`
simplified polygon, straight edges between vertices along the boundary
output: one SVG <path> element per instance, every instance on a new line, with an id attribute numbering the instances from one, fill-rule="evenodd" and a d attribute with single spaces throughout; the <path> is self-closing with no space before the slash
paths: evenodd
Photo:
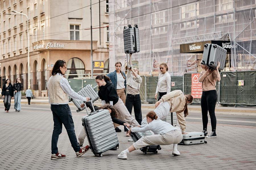
<path id="1" fill-rule="evenodd" d="M 50 103 L 67 103 L 69 102 L 69 96 L 62 90 L 59 85 L 63 76 L 54 75 L 49 79 L 49 96 Z"/>

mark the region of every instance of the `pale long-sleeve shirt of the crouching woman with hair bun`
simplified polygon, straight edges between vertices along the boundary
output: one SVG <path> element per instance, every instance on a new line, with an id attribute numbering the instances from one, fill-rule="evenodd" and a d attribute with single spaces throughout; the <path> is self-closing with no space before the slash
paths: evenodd
<path id="1" fill-rule="evenodd" d="M 157 119 L 153 120 L 149 124 L 141 125 L 141 128 L 135 127 L 131 129 L 132 132 L 145 132 L 149 130 L 154 132 L 154 134 L 164 134 L 169 131 L 175 130 L 175 128 L 171 124 Z"/>

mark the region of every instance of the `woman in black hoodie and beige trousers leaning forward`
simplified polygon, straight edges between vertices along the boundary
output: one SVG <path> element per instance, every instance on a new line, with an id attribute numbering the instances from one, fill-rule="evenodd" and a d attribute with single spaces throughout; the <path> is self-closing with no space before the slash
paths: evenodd
<path id="1" fill-rule="evenodd" d="M 132 126 L 139 126 L 139 123 L 127 110 L 123 101 L 118 97 L 116 89 L 110 78 L 105 75 L 98 75 L 95 78 L 95 82 L 99 86 L 98 95 L 102 101 L 102 105 L 109 103 L 119 113 L 118 118 Z"/>

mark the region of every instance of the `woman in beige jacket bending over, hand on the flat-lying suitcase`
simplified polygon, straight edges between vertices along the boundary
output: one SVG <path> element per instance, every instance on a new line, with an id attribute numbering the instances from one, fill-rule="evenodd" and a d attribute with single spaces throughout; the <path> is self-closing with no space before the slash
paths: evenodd
<path id="1" fill-rule="evenodd" d="M 174 90 L 166 95 L 163 95 L 162 98 L 156 102 L 156 109 L 154 112 L 156 112 L 158 119 L 161 120 L 166 118 L 170 112 L 176 112 L 182 134 L 186 134 L 185 117 L 188 115 L 187 103 L 191 103 L 192 101 L 193 97 L 191 95 L 184 95 L 181 90 Z M 146 118 L 144 118 L 141 124 L 146 123 Z M 179 151 L 176 151 L 175 148 L 177 148 L 177 144 L 173 145 L 172 154 L 179 155 Z"/>

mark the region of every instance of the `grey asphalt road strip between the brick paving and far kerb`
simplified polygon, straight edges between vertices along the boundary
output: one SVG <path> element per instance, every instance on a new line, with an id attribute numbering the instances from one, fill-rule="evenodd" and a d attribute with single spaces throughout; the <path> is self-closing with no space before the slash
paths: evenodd
<path id="1" fill-rule="evenodd" d="M 71 112 L 72 114 L 86 114 L 86 111 L 82 111 L 77 113 L 76 110 L 77 108 L 75 105 L 71 105 Z M 0 105 L 0 110 L 4 112 L 4 106 Z M 26 110 L 31 111 L 34 110 L 35 112 L 40 112 L 41 111 L 49 111 L 51 112 L 50 105 L 48 104 L 40 104 L 40 105 L 22 105 L 21 106 L 21 111 L 19 114 L 22 114 L 22 112 L 26 112 Z M 90 111 L 90 109 L 88 109 Z M 14 111 L 13 109 L 13 103 L 11 104 L 11 109 L 10 112 Z M 142 117 L 144 118 L 146 113 L 148 111 L 142 110 Z M 18 112 L 17 112 L 18 113 Z M 134 116 L 134 112 L 132 113 Z M 209 122 L 210 123 L 210 116 L 209 117 Z M 256 116 L 248 116 L 248 115 L 234 115 L 234 114 L 216 114 L 217 118 L 217 124 L 231 124 L 231 125 L 243 125 L 243 126 L 256 126 Z M 187 122 L 202 122 L 202 117 L 200 112 L 189 112 L 189 116 L 186 118 Z"/>

